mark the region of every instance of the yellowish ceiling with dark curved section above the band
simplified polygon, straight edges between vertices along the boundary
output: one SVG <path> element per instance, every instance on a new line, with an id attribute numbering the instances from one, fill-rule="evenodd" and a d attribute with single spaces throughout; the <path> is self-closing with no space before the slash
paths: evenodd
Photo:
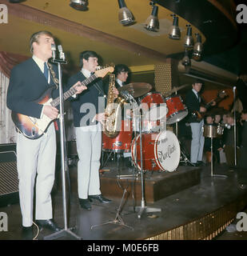
<path id="1" fill-rule="evenodd" d="M 133 26 L 122 26 L 118 22 L 117 0 L 89 0 L 87 11 L 74 10 L 69 0 L 1 2 L 8 6 L 9 17 L 7 24 L 0 25 L 1 34 L 5 35 L 0 40 L 0 50 L 30 56 L 30 35 L 38 30 L 50 30 L 66 52 L 70 66 L 79 65 L 78 55 L 82 50 L 95 50 L 104 63 L 124 63 L 135 71 L 150 70 L 153 64 L 184 52 L 182 38 L 186 24 L 192 25 L 194 39 L 195 33 L 201 34 L 205 54 L 227 49 L 236 40 L 237 28 L 229 11 L 231 0 L 154 1 L 159 6 L 158 32 L 143 28 L 151 14 L 148 0 L 125 0 L 136 20 Z M 173 11 L 179 17 L 181 40 L 168 38 Z M 225 37 L 229 39 L 222 44 Z"/>

